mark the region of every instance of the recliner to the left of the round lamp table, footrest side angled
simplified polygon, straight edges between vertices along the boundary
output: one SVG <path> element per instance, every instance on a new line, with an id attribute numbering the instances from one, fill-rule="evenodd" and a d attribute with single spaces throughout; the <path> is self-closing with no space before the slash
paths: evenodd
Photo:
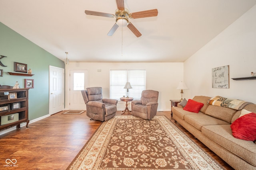
<path id="1" fill-rule="evenodd" d="M 102 87 L 88 87 L 81 92 L 86 104 L 86 115 L 91 119 L 106 121 L 116 115 L 118 101 L 103 99 Z"/>

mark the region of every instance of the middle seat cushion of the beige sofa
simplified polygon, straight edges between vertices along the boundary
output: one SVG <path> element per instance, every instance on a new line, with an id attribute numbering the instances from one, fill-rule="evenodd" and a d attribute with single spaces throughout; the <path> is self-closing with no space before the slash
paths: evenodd
<path id="1" fill-rule="evenodd" d="M 201 114 L 194 113 L 191 115 L 185 115 L 184 120 L 190 125 L 194 126 L 199 131 L 201 131 L 202 127 L 206 125 L 226 125 L 226 124 L 230 125 L 226 121 L 216 119 L 204 113 L 201 113 Z"/>

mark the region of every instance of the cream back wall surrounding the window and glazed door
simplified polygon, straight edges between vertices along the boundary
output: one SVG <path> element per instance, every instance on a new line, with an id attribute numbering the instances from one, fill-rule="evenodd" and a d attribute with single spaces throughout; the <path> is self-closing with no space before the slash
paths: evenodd
<path id="1" fill-rule="evenodd" d="M 183 63 L 70 63 L 65 68 L 66 109 L 69 103 L 69 72 L 83 69 L 89 72 L 89 87 L 101 86 L 104 98 L 109 98 L 111 69 L 145 69 L 146 89 L 159 91 L 158 111 L 170 110 L 170 99 L 180 99 L 180 91 L 176 88 L 183 80 Z M 125 103 L 118 101 L 117 107 L 123 110 Z"/>

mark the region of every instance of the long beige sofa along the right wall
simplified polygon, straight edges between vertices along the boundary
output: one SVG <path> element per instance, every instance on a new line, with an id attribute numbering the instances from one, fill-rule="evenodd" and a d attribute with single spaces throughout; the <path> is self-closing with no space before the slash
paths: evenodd
<path id="1" fill-rule="evenodd" d="M 234 169 L 256 170 L 256 144 L 232 135 L 230 125 L 241 110 L 208 105 L 209 99 L 207 96 L 192 99 L 204 104 L 199 113 L 186 111 L 179 104 L 172 107 L 173 119 Z M 256 113 L 256 104 L 248 104 L 244 109 Z"/>

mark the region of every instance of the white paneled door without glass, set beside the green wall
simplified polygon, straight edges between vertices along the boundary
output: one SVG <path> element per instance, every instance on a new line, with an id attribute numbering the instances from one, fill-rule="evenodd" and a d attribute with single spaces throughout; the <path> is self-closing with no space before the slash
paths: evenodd
<path id="1" fill-rule="evenodd" d="M 49 66 L 49 114 L 64 110 L 64 68 Z"/>

